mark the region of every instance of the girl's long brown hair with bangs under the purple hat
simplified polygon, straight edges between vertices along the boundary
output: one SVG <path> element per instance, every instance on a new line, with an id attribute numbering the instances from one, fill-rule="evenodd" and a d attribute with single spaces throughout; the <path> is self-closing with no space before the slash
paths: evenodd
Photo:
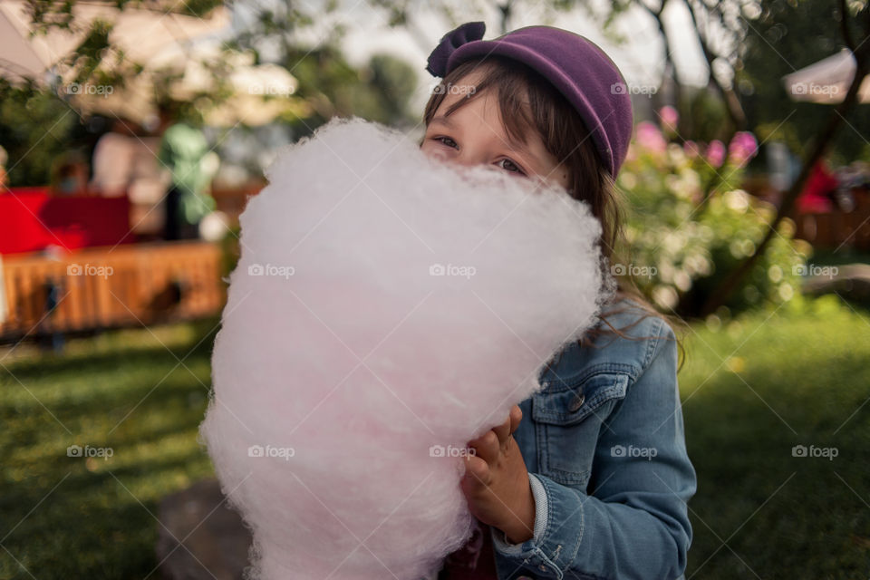
<path id="1" fill-rule="evenodd" d="M 429 102 L 426 103 L 423 114 L 426 126 L 429 126 L 435 112 L 444 101 L 445 95 L 449 93 L 447 88 L 459 85 L 459 81 L 478 66 L 481 66 L 482 75 L 474 86 L 474 91 L 464 91 L 464 98 L 450 105 L 444 111 L 444 115 L 449 116 L 453 111 L 485 92 L 489 87 L 496 88 L 501 120 L 505 124 L 510 138 L 519 142 L 527 142 L 525 137 L 527 131 L 537 131 L 546 150 L 556 157 L 559 164 L 564 164 L 568 169 L 568 193 L 572 198 L 585 201 L 591 208 L 594 217 L 601 223 L 602 235 L 599 242 L 602 256 L 606 258 L 602 260 L 602 274 L 604 276 L 609 274 L 606 272 L 608 264 L 626 263 L 620 259 L 623 253 L 626 255 L 629 253 L 623 234 L 623 212 L 624 208 L 627 207 L 626 198 L 623 192 L 617 189 L 614 179 L 598 157 L 594 143 L 589 138 L 589 131 L 580 115 L 553 84 L 546 81 L 532 68 L 524 63 L 499 55 L 488 55 L 482 59 L 459 63 L 441 80 L 436 90 L 432 92 Z M 687 325 L 680 317 L 662 314 L 647 302 L 637 288 L 631 272 L 627 272 L 626 275 L 619 276 L 617 279 L 616 292 L 612 302 L 615 303 L 621 298 L 633 300 L 640 306 L 639 310 L 643 312 L 643 315 L 632 324 L 617 329 L 607 321 L 607 316 L 622 313 L 628 308 L 608 310 L 601 314 L 601 322 L 606 324 L 608 328 L 596 324 L 578 339 L 581 346 L 584 343 L 594 346 L 591 339 L 605 333 L 615 333 L 629 340 L 654 338 L 651 336 L 633 337 L 623 333 L 648 316 L 662 318 L 671 324 L 675 333 L 676 329 L 680 329 L 681 334 L 687 329 Z M 677 338 L 681 354 L 679 368 L 685 362 L 681 334 Z"/>

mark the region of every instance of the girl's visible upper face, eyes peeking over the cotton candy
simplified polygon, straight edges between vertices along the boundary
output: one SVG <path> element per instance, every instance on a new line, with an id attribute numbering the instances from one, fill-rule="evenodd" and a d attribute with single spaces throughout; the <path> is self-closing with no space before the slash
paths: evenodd
<path id="1" fill-rule="evenodd" d="M 454 84 L 451 89 L 475 86 L 474 76 L 475 73 L 469 73 L 462 79 L 463 84 Z M 420 150 L 433 158 L 462 165 L 491 164 L 517 177 L 544 179 L 567 189 L 568 170 L 546 150 L 536 131 L 526 135 L 526 143 L 510 140 L 491 90 L 475 95 L 445 117 L 444 111 L 462 98 L 465 94 L 461 91 L 445 95 L 426 128 Z"/>

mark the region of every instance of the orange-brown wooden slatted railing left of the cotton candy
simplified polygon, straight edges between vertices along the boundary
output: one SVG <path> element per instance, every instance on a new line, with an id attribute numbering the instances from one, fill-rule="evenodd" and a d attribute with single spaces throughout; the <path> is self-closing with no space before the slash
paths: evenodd
<path id="1" fill-rule="evenodd" d="M 225 300 L 220 247 L 198 241 L 7 255 L 3 285 L 3 341 L 189 320 L 218 314 Z"/>

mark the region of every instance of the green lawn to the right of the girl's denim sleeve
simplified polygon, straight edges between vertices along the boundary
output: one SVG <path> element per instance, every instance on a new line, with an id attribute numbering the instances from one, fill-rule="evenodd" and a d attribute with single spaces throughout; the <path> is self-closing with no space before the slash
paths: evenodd
<path id="1" fill-rule="evenodd" d="M 690 333 L 680 383 L 699 481 L 687 577 L 866 578 L 870 316 L 836 296 L 768 316 Z M 793 457 L 795 445 L 838 455 Z"/>

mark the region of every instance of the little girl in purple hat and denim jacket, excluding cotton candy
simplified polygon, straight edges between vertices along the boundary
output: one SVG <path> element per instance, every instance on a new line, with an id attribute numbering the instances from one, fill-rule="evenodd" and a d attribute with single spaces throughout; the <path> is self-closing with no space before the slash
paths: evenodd
<path id="1" fill-rule="evenodd" d="M 462 24 L 430 54 L 427 70 L 442 81 L 420 148 L 562 186 L 601 222 L 604 275 L 608 263 L 630 270 L 616 249 L 614 179 L 633 126 L 622 74 L 565 30 L 529 26 L 491 41 L 484 30 Z M 617 278 L 598 324 L 544 366 L 542 390 L 469 441 L 461 485 L 480 526 L 440 580 L 682 577 L 696 483 L 671 325 L 681 324 L 657 314 L 630 276 Z"/>

